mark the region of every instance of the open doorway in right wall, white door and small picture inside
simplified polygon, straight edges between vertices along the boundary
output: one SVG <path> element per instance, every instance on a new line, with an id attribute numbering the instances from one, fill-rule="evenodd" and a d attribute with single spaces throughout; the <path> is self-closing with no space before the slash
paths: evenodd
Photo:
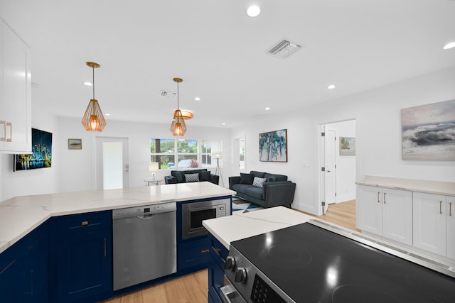
<path id="1" fill-rule="evenodd" d="M 355 119 L 321 124 L 321 213 L 328 204 L 355 199 Z M 341 138 L 341 139 L 340 139 Z M 348 140 L 353 153 L 344 153 L 341 142 Z"/>

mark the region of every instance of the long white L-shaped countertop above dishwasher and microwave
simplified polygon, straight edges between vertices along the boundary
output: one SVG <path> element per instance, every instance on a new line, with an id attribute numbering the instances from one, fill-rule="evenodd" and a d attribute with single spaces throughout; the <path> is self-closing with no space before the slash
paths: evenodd
<path id="1" fill-rule="evenodd" d="M 88 192 L 39 194 L 0 202 L 0 253 L 51 216 L 176 202 L 235 194 L 210 182 L 164 184 Z"/>

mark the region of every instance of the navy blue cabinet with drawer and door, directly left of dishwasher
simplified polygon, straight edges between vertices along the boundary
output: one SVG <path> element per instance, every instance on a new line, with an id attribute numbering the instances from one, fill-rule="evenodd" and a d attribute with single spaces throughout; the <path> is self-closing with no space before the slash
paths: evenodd
<path id="1" fill-rule="evenodd" d="M 50 302 L 97 302 L 112 296 L 112 212 L 50 221 Z"/>

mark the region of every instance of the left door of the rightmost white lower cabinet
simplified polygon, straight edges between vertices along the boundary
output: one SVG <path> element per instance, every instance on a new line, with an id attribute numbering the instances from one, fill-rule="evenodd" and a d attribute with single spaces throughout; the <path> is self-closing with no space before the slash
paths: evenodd
<path id="1" fill-rule="evenodd" d="M 414 192 L 413 204 L 414 247 L 446 255 L 446 196 Z"/>

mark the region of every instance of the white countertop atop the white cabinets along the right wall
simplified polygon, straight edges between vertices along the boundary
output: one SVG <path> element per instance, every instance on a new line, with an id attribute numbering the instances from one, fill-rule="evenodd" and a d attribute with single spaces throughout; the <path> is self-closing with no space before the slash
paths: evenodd
<path id="1" fill-rule="evenodd" d="M 455 196 L 455 182 L 365 176 L 365 180 L 355 183 L 359 185 L 410 190 L 412 192 L 427 192 L 429 194 Z"/>

